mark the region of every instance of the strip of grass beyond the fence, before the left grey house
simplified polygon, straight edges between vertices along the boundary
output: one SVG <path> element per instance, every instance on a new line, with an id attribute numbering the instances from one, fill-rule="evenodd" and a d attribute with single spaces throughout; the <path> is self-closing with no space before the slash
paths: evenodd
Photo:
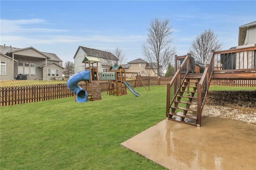
<path id="1" fill-rule="evenodd" d="M 61 80 L 3 80 L 0 81 L 0 87 L 10 87 L 10 86 L 23 86 L 23 85 L 44 85 L 44 84 L 58 84 L 67 83 Z"/>

